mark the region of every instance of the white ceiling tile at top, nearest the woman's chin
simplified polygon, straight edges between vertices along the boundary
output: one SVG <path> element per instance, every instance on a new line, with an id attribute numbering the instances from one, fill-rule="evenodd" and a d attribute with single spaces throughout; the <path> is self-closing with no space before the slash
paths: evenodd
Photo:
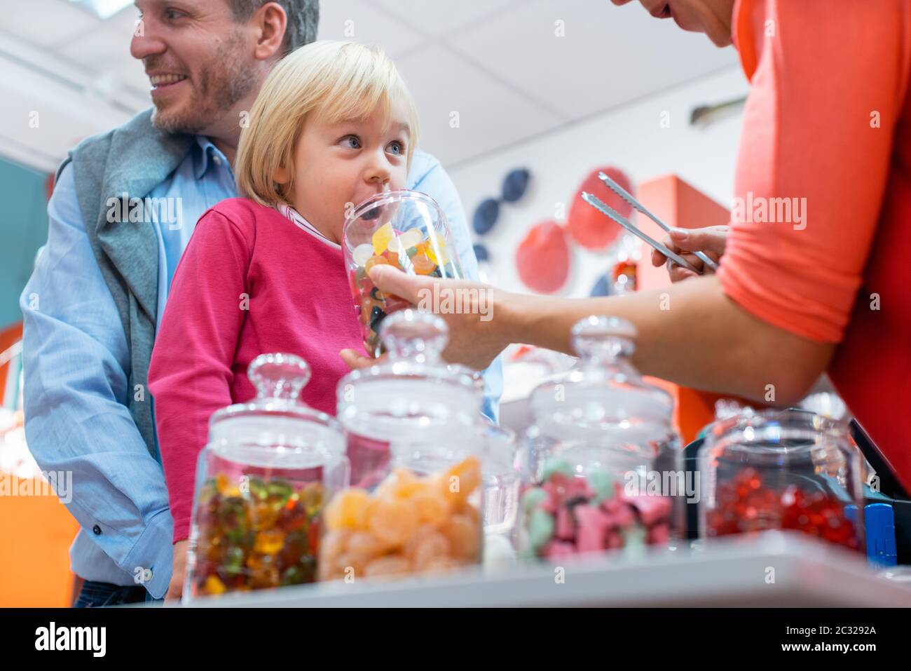
<path id="1" fill-rule="evenodd" d="M 565 36 L 557 36 L 558 21 Z M 507 38 L 508 37 L 508 38 Z M 568 119 L 617 106 L 736 63 L 640 5 L 532 0 L 448 38 L 464 57 Z"/>

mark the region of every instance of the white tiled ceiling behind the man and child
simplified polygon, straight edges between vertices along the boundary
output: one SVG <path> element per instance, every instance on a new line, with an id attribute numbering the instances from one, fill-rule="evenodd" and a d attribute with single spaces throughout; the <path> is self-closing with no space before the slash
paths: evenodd
<path id="1" fill-rule="evenodd" d="M 394 57 L 417 102 L 423 148 L 450 167 L 736 63 L 732 48 L 609 0 L 321 5 L 320 37 L 378 44 Z M 0 154 L 53 170 L 79 139 L 149 104 L 128 53 L 136 15 L 129 7 L 101 21 L 67 0 L 5 3 Z M 35 111 L 37 129 L 28 124 Z"/>

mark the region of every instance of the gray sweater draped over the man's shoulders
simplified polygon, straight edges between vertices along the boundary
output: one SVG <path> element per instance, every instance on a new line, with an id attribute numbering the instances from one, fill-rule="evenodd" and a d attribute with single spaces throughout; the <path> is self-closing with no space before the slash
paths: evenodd
<path id="1" fill-rule="evenodd" d="M 149 453 L 158 459 L 148 395 L 148 362 L 159 299 L 158 239 L 153 223 L 107 221 L 108 199 L 121 198 L 124 193 L 128 198 L 148 196 L 179 166 L 193 142 L 190 135 L 156 129 L 151 116 L 149 108 L 117 129 L 83 140 L 69 152 L 57 177 L 72 161 L 88 240 L 127 335 L 127 407 Z"/>

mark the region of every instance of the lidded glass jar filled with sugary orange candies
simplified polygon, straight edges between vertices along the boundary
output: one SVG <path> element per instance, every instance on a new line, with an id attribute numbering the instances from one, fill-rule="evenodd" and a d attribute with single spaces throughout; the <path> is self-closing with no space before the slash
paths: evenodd
<path id="1" fill-rule="evenodd" d="M 481 561 L 483 389 L 445 366 L 445 322 L 404 310 L 382 326 L 387 362 L 339 383 L 355 486 L 326 506 L 322 579 L 448 571 Z M 363 440 L 370 445 L 363 448 Z M 388 446 L 384 463 L 363 451 Z"/>

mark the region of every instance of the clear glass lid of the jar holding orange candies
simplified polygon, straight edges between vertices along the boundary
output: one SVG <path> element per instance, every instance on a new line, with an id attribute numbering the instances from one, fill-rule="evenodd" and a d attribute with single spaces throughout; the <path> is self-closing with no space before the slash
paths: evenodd
<path id="1" fill-rule="evenodd" d="M 412 309 L 387 316 L 385 361 L 354 370 L 338 386 L 338 418 L 359 435 L 420 439 L 428 430 L 468 426 L 481 411 L 484 383 L 464 366 L 447 366 L 445 321 Z"/>

